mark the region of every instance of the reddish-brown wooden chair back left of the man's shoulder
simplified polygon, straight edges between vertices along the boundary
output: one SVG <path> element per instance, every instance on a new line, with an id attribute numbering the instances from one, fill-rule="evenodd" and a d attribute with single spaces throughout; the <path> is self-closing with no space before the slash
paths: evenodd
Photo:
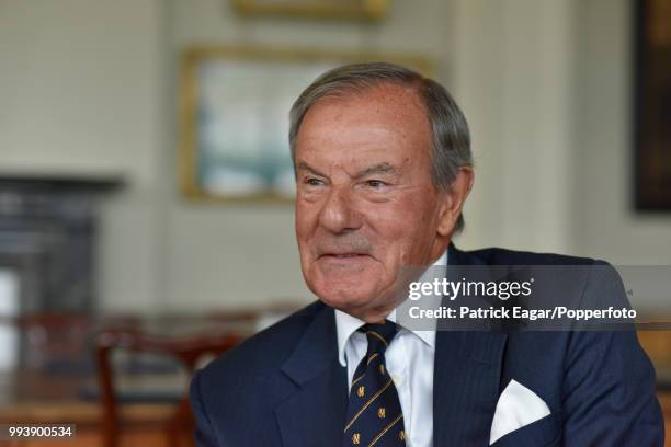
<path id="1" fill-rule="evenodd" d="M 106 330 L 95 339 L 95 357 L 101 402 L 103 406 L 102 431 L 105 447 L 116 447 L 120 439 L 118 399 L 115 392 L 111 353 L 125 349 L 135 353 L 162 354 L 177 359 L 191 376 L 197 362 L 205 355 L 220 355 L 242 341 L 241 335 L 212 334 L 189 337 L 164 337 L 137 330 Z M 173 416 L 167 422 L 169 446 L 182 442 L 193 445 L 195 427 L 189 394 L 185 391 Z"/>

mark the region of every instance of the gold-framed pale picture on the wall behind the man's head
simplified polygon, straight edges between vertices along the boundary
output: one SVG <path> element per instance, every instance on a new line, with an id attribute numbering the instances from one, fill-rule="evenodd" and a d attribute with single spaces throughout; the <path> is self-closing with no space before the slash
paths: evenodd
<path id="1" fill-rule="evenodd" d="M 288 200 L 295 194 L 288 111 L 317 76 L 354 61 L 402 64 L 432 74 L 422 57 L 259 47 L 194 48 L 181 73 L 179 174 L 190 198 Z"/>

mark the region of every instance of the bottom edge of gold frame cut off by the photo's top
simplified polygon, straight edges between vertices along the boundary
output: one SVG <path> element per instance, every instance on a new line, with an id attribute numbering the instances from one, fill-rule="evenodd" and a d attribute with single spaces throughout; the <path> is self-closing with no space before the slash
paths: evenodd
<path id="1" fill-rule="evenodd" d="M 243 15 L 382 19 L 389 0 L 230 0 Z"/>

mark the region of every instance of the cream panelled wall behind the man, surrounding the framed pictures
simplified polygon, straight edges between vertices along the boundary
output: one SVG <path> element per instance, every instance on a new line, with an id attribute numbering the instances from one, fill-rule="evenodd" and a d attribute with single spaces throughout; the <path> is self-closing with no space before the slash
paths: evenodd
<path id="1" fill-rule="evenodd" d="M 107 309 L 308 300 L 291 207 L 180 197 L 178 56 L 270 43 L 417 53 L 437 61 L 471 126 L 477 180 L 459 245 L 670 263 L 670 218 L 630 210 L 627 5 L 393 1 L 364 24 L 243 20 L 221 0 L 2 0 L 0 171 L 127 176 L 103 209 Z"/>

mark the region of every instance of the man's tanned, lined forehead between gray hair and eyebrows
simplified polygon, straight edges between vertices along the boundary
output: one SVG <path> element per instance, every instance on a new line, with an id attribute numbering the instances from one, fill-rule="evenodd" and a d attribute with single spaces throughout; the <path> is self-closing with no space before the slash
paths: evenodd
<path id="1" fill-rule="evenodd" d="M 391 83 L 320 99 L 305 114 L 296 139 L 297 156 L 321 149 L 422 156 L 431 146 L 431 125 L 419 94 Z"/>

